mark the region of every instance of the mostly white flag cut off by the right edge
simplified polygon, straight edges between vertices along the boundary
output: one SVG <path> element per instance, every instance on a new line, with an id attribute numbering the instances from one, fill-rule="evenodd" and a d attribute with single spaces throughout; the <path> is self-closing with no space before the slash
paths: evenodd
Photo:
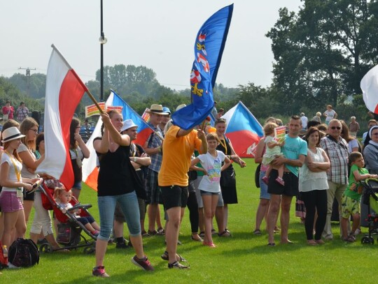
<path id="1" fill-rule="evenodd" d="M 378 114 L 378 65 L 371 68 L 360 83 L 367 110 Z"/>

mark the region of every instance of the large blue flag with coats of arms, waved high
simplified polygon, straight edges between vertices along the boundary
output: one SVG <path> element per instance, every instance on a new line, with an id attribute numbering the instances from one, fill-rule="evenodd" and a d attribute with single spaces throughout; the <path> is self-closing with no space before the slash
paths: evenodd
<path id="1" fill-rule="evenodd" d="M 218 10 L 202 25 L 195 39 L 190 73 L 193 103 L 174 112 L 173 123 L 188 130 L 201 124 L 214 107 L 213 87 L 221 64 L 234 4 Z"/>

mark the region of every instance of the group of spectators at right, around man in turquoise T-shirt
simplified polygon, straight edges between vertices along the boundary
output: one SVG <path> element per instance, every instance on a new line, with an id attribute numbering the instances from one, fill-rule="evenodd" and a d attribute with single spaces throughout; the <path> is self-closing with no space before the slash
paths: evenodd
<path id="1" fill-rule="evenodd" d="M 356 117 L 351 117 L 348 126 L 345 121 L 336 119 L 337 113 L 331 105 L 327 106 L 323 116 L 325 124 L 321 124 L 320 112 L 311 121 L 304 113 L 300 117 L 291 117 L 285 141 L 281 143 L 272 142 L 271 128 L 277 126 L 277 121 L 274 118 L 265 121 L 265 137 L 255 150 L 255 163 L 261 165 L 260 203 L 253 233 L 261 234 L 260 225 L 265 218 L 268 246 L 276 245 L 274 232 L 278 231 L 276 223 L 280 209 L 280 241 L 281 244 L 291 244 L 288 218 L 294 196 L 297 202 L 304 202 L 307 244 L 317 246 L 334 239 L 331 230 L 334 200 L 339 205 L 337 215 L 342 241 L 356 241 L 356 234 L 360 233 L 363 193 L 360 181 L 378 177 L 378 137 L 374 132 L 376 130 L 378 136 L 377 121 L 369 121 L 370 130 L 363 135 L 362 147 L 356 138 L 360 130 Z M 279 154 L 272 156 L 274 148 Z M 353 218 L 353 227 L 350 227 L 350 217 Z"/>

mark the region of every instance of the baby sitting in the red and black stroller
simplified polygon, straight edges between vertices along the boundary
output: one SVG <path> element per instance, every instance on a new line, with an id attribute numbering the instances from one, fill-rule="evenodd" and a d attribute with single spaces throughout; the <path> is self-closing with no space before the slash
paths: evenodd
<path id="1" fill-rule="evenodd" d="M 72 204 L 70 203 L 71 199 L 72 199 L 72 191 L 71 190 L 66 190 L 65 188 L 62 188 L 62 187 L 56 187 L 55 190 L 54 190 L 54 197 L 55 197 L 55 201 L 57 202 L 57 204 L 62 207 L 63 209 L 70 209 L 72 208 Z M 90 233 L 93 235 L 93 236 L 98 236 L 99 235 L 99 230 L 100 230 L 100 227 L 99 225 L 96 223 L 96 221 L 94 221 L 94 218 L 92 216 L 85 216 L 85 217 L 82 217 L 80 216 L 80 209 L 76 212 L 73 212 L 74 214 L 76 214 L 76 220 L 79 221 L 80 223 L 82 223 L 84 225 L 84 227 L 90 231 Z"/>

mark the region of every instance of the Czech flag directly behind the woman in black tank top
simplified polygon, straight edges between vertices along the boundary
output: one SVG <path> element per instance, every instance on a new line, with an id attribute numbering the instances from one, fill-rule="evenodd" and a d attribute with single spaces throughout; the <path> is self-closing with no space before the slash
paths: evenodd
<path id="1" fill-rule="evenodd" d="M 141 116 L 137 112 L 135 112 L 132 107 L 130 107 L 130 105 L 127 105 L 125 100 L 120 98 L 120 96 L 118 96 L 118 94 L 116 94 L 116 92 L 113 90 L 111 90 L 111 94 L 106 100 L 105 105 L 106 107 L 123 107 L 123 119 L 132 119 L 132 121 L 134 121 L 134 124 L 137 124 L 138 126 L 137 140 L 134 140 L 133 142 L 135 144 L 140 144 L 141 146 L 143 146 L 151 133 L 153 133 L 153 130 L 148 126 L 148 124 L 146 124 L 146 121 L 144 121 L 144 119 L 142 119 Z M 87 186 L 90 186 L 94 190 L 97 190 L 97 177 L 99 175 L 99 170 L 97 168 L 97 154 L 93 148 L 93 140 L 95 137 L 101 136 L 101 126 L 102 119 L 100 117 L 90 139 L 86 143 L 88 149 L 90 149 L 90 158 L 83 160 L 82 167 L 83 181 L 85 182 L 85 184 L 87 184 Z"/>

